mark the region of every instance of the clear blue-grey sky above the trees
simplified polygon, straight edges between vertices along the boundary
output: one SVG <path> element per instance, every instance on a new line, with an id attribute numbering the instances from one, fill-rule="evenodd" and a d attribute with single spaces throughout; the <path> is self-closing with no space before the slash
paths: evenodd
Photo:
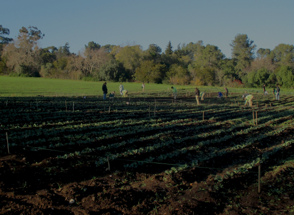
<path id="1" fill-rule="evenodd" d="M 24 26 L 35 26 L 41 47 L 63 46 L 77 53 L 89 41 L 101 45 L 135 41 L 164 51 L 170 40 L 217 45 L 227 58 L 235 35 L 247 34 L 258 48 L 294 44 L 294 1 L 173 1 L 173 0 L 9 0 L 1 1 L 0 25 L 10 37 Z M 256 49 L 256 50 L 257 50 Z"/>

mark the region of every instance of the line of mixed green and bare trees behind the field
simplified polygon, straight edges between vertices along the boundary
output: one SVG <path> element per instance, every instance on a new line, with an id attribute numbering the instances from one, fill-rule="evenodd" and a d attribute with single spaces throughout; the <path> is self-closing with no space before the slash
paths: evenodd
<path id="1" fill-rule="evenodd" d="M 36 27 L 22 27 L 15 38 L 0 25 L 0 75 L 46 77 L 84 81 L 146 82 L 226 87 L 294 86 L 294 46 L 278 44 L 259 48 L 247 34 L 237 34 L 231 58 L 216 45 L 178 44 L 169 41 L 165 50 L 150 44 L 100 45 L 88 42 L 78 53 L 64 46 L 40 48 L 44 37 Z"/>

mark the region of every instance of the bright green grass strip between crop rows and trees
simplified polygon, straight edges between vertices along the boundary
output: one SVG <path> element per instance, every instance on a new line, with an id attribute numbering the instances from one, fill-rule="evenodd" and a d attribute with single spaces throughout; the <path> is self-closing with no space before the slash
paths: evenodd
<path id="1" fill-rule="evenodd" d="M 48 78 L 21 78 L 21 77 L 8 77 L 0 76 L 0 96 L 80 96 L 80 95 L 99 95 L 102 96 L 102 85 L 101 82 L 86 82 L 76 80 L 61 80 L 61 79 L 48 79 Z M 132 92 L 141 91 L 141 83 L 122 83 L 124 89 L 128 90 L 130 94 Z M 107 83 L 109 92 L 119 92 L 120 83 Z M 171 91 L 172 85 L 166 84 L 145 84 L 145 92 L 150 91 Z M 184 89 L 194 91 L 196 86 L 175 86 L 178 90 Z M 218 92 L 224 91 L 223 87 L 212 87 L 212 86 L 199 86 L 200 91 L 204 92 Z M 229 92 L 262 92 L 262 88 L 228 88 Z M 269 92 L 272 92 L 272 88 L 267 87 Z M 293 90 L 285 90 L 281 88 L 281 94 L 292 93 Z"/>

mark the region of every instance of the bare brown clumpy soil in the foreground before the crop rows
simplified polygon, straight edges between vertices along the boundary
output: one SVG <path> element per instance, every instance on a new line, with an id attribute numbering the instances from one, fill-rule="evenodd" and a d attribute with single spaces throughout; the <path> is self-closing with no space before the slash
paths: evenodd
<path id="1" fill-rule="evenodd" d="M 247 152 L 249 149 L 242 149 L 241 153 Z M 120 171 L 106 172 L 96 171 L 85 162 L 60 171 L 63 166 L 68 167 L 68 159 L 62 162 L 55 159 L 32 164 L 22 154 L 1 157 L 0 213 L 293 214 L 294 211 L 293 163 L 263 172 L 258 193 L 257 173 L 237 174 L 220 184 L 212 175 L 221 174 L 217 170 L 192 168 L 167 175 L 162 172 L 166 169 L 162 165 L 122 171 L 117 162 L 111 168 Z M 58 165 L 59 171 L 50 170 L 52 175 L 48 176 L 48 167 L 53 164 Z M 257 167 L 252 169 L 256 171 Z"/>

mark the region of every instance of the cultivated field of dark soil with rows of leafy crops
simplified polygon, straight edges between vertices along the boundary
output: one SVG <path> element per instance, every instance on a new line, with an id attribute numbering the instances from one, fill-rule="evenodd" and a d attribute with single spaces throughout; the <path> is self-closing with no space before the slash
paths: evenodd
<path id="1" fill-rule="evenodd" d="M 0 213 L 292 214 L 294 96 L 241 95 L 0 98 Z"/>

